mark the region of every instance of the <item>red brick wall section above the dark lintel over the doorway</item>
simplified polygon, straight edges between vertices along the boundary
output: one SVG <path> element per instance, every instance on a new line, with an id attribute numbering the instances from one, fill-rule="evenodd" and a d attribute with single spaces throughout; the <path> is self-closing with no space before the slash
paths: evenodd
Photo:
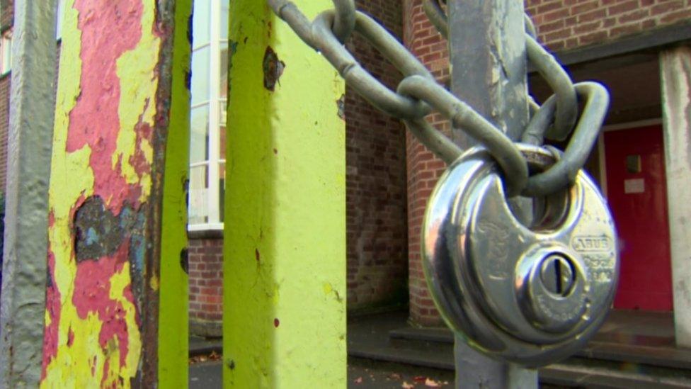
<path id="1" fill-rule="evenodd" d="M 691 18 L 689 0 L 525 0 L 539 38 L 554 51 L 616 40 Z"/>

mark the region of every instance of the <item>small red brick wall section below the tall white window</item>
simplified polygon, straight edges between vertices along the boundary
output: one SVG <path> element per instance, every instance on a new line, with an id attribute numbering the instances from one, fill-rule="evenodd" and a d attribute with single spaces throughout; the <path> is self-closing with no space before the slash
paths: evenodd
<path id="1" fill-rule="evenodd" d="M 223 320 L 223 239 L 190 239 L 190 332 L 219 337 Z"/>

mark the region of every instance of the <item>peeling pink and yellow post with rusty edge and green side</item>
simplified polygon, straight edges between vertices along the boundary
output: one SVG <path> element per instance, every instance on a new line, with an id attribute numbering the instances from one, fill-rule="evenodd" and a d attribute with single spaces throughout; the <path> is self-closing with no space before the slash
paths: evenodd
<path id="1" fill-rule="evenodd" d="M 64 10 L 41 386 L 178 388 L 190 0 Z"/>

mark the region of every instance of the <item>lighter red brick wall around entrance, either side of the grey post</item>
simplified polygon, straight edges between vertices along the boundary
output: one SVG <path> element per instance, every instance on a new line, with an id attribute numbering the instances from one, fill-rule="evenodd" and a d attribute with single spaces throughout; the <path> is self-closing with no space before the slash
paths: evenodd
<path id="1" fill-rule="evenodd" d="M 404 43 L 445 83 L 449 77 L 447 43 L 428 21 L 421 4 L 422 0 L 404 0 Z M 540 40 L 554 51 L 617 40 L 687 23 L 691 18 L 690 0 L 525 0 L 525 4 Z M 431 121 L 448 132 L 445 120 L 435 115 Z M 428 196 L 445 165 L 414 137 L 407 138 L 410 315 L 418 324 L 439 325 L 421 266 L 420 226 Z"/>

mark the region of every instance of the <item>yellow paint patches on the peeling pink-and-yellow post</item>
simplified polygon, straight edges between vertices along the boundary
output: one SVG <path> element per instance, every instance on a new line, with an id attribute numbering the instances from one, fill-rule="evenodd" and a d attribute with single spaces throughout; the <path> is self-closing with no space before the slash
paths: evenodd
<path id="1" fill-rule="evenodd" d="M 125 366 L 120 366 L 120 344 L 112 337 L 105 347 L 99 344 L 103 322 L 98 313 L 89 312 L 79 317 L 74 305 L 74 281 L 77 264 L 72 238 L 72 212 L 80 198 L 93 195 L 94 175 L 89 166 L 92 150 L 88 145 L 74 152 L 67 152 L 69 114 L 76 106 L 81 93 L 81 31 L 78 12 L 73 8 L 74 0 L 65 4 L 60 58 L 59 84 L 53 137 L 51 181 L 49 191 L 52 225 L 48 231 L 50 248 L 55 256 L 55 288 L 59 291 L 60 312 L 57 322 L 57 350 L 45 366 L 42 388 L 98 388 L 130 387 L 130 379 L 137 375 L 142 355 L 142 339 L 137 324 L 137 308 L 126 298 L 125 290 L 130 288 L 130 264 L 125 263 L 120 271 L 110 278 L 110 299 L 120 303 L 122 312 L 118 317 L 127 326 L 127 356 Z M 118 60 L 120 77 L 120 131 L 117 151 L 113 155 L 113 166 L 120 161 L 122 175 L 127 183 L 142 188 L 140 201 L 145 202 L 151 193 L 149 174 L 137 174 L 130 164 L 135 154 L 137 135 L 135 126 L 140 121 L 154 125 L 156 114 L 155 94 L 158 80 L 154 67 L 158 62 L 161 40 L 153 33 L 154 4 L 144 2 L 142 16 L 142 39 L 135 50 L 126 52 Z M 113 37 L 114 39 L 116 37 Z M 146 140 L 139 142 L 146 161 L 153 159 L 152 145 Z M 105 199 L 110 201 L 110 199 Z M 158 288 L 158 280 L 152 280 Z M 121 315 L 121 316 L 120 316 Z M 54 325 L 50 313 L 46 312 L 46 326 Z M 44 350 L 44 354 L 46 350 Z M 105 366 L 108 366 L 104 373 Z"/>

